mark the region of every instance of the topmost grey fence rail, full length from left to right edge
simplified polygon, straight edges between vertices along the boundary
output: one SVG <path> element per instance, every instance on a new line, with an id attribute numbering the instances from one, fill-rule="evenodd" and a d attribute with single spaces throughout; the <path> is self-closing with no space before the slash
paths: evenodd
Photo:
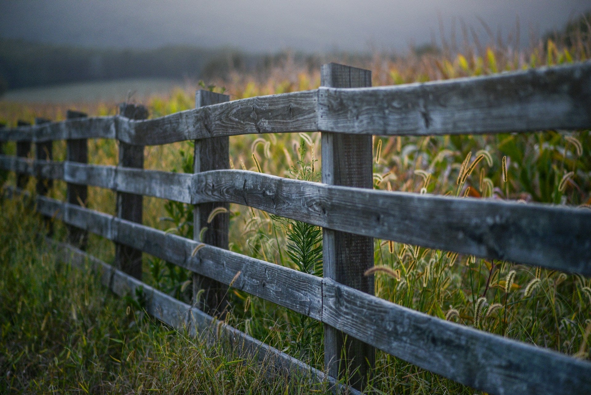
<path id="1" fill-rule="evenodd" d="M 241 134 L 330 131 L 441 135 L 583 129 L 591 62 L 376 88 L 319 88 L 239 99 L 145 121 L 70 119 L 3 131 L 0 141 L 116 138 L 159 145 Z"/>

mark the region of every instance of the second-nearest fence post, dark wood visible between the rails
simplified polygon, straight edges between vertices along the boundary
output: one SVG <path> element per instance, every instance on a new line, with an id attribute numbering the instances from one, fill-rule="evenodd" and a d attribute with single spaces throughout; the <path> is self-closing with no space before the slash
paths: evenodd
<path id="1" fill-rule="evenodd" d="M 228 95 L 209 92 L 209 90 L 197 90 L 195 95 L 195 107 L 203 107 L 229 101 Z M 204 122 L 212 122 L 209 117 L 204 117 Z M 209 125 L 212 126 L 212 125 Z M 203 140 L 195 140 L 193 158 L 193 171 L 228 169 L 229 164 L 229 138 L 211 137 Z M 220 212 L 213 217 L 210 223 L 207 222 L 213 209 L 223 207 L 229 208 L 228 203 L 201 203 L 193 209 L 193 239 L 215 247 L 228 249 L 228 224 L 229 215 L 227 212 Z M 203 239 L 199 239 L 201 229 L 207 228 L 203 233 Z M 228 286 L 208 277 L 194 274 L 193 276 L 193 298 L 203 290 L 199 296 L 199 308 L 209 315 L 223 317 L 226 313 L 228 300 L 226 293 Z M 194 300 L 194 303 L 197 300 Z"/>

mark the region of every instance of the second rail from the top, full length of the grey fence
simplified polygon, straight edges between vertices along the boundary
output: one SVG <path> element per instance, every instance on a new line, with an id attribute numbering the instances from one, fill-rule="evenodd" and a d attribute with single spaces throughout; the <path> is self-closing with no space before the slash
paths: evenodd
<path id="1" fill-rule="evenodd" d="M 168 173 L 11 156 L 0 156 L 0 169 L 183 203 L 237 203 L 337 231 L 591 275 L 586 209 L 329 186 L 244 170 Z"/>

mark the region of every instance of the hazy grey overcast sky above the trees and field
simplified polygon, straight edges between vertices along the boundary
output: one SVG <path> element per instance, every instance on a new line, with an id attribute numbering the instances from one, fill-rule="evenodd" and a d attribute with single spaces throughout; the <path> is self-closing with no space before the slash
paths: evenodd
<path id="1" fill-rule="evenodd" d="M 486 35 L 544 33 L 591 0 L 0 0 L 0 37 L 93 47 L 166 44 L 246 51 L 404 50 L 439 37 L 439 16 Z"/>

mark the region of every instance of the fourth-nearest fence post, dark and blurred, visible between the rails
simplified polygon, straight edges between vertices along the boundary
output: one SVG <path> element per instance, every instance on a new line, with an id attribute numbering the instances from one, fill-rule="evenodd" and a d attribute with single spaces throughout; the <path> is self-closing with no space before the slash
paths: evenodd
<path id="1" fill-rule="evenodd" d="M 67 119 L 86 118 L 84 112 L 68 110 Z M 77 163 L 88 163 L 88 140 L 86 138 L 72 138 L 66 140 L 66 160 Z M 72 205 L 86 206 L 88 187 L 82 184 L 66 184 L 66 202 Z M 70 244 L 86 250 L 88 232 L 76 226 L 68 225 L 68 241 Z"/>

